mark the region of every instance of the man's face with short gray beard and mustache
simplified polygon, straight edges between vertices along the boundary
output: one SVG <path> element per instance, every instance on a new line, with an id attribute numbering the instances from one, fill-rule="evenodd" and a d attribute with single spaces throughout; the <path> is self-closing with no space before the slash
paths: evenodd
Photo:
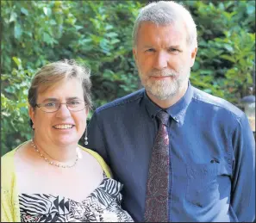
<path id="1" fill-rule="evenodd" d="M 188 46 L 184 23 L 159 26 L 142 22 L 137 34 L 134 59 L 147 93 L 159 100 L 186 89 L 197 47 Z"/>

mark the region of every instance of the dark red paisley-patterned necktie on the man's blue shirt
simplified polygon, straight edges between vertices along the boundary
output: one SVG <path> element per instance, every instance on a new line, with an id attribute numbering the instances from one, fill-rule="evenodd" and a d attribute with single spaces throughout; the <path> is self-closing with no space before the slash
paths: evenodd
<path id="1" fill-rule="evenodd" d="M 168 221 L 168 189 L 169 189 L 169 137 L 167 124 L 170 115 L 161 110 L 159 131 L 153 145 L 151 163 L 147 177 L 147 195 L 145 208 L 146 222 Z"/>

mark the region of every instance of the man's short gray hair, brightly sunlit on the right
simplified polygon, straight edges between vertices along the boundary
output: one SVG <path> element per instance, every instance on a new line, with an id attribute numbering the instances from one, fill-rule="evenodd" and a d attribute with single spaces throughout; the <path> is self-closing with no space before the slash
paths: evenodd
<path id="1" fill-rule="evenodd" d="M 197 46 L 197 26 L 190 12 L 183 5 L 172 1 L 149 3 L 140 9 L 134 22 L 133 46 L 136 47 L 137 35 L 141 22 L 153 22 L 157 25 L 169 25 L 175 22 L 184 22 L 187 30 L 187 43 Z"/>

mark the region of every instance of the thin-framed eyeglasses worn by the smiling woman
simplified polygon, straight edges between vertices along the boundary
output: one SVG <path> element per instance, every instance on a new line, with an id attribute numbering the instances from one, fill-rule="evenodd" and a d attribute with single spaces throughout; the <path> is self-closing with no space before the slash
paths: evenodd
<path id="1" fill-rule="evenodd" d="M 46 102 L 35 104 L 35 106 L 40 108 L 43 112 L 56 112 L 59 110 L 61 104 L 66 104 L 66 108 L 68 108 L 70 111 L 81 111 L 86 106 L 86 102 L 81 100 L 72 100 L 66 103 Z"/>

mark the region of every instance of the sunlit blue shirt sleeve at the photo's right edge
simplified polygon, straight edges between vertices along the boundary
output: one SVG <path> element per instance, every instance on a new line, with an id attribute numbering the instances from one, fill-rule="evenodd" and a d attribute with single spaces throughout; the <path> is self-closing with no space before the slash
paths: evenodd
<path id="1" fill-rule="evenodd" d="M 240 222 L 255 220 L 255 139 L 244 114 L 232 135 L 234 149 L 231 206 Z"/>

